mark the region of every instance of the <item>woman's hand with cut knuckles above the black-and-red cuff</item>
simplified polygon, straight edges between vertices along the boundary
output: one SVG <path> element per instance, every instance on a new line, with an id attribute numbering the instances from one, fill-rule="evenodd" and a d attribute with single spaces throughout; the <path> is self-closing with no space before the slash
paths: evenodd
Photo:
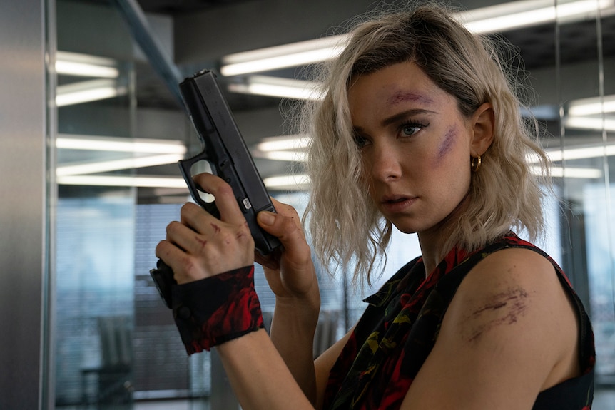
<path id="1" fill-rule="evenodd" d="M 167 226 L 166 240 L 156 247 L 156 256 L 173 269 L 180 284 L 254 263 L 254 240 L 230 185 L 210 173 L 194 179 L 215 197 L 220 219 L 194 203 L 186 203 L 181 209 L 181 222 Z"/>

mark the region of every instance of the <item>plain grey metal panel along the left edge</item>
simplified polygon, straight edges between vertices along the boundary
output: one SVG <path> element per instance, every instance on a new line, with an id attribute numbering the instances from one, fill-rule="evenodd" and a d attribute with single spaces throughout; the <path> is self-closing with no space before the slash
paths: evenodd
<path id="1" fill-rule="evenodd" d="M 0 9 L 0 409 L 37 409 L 46 270 L 44 0 L 1 0 Z"/>

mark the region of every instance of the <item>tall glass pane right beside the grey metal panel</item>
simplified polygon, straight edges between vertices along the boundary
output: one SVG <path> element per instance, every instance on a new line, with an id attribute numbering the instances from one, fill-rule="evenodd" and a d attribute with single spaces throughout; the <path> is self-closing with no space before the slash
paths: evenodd
<path id="1" fill-rule="evenodd" d="M 56 19 L 56 405 L 118 409 L 132 402 L 136 230 L 121 181 L 143 155 L 131 36 L 104 3 L 59 0 Z"/>

